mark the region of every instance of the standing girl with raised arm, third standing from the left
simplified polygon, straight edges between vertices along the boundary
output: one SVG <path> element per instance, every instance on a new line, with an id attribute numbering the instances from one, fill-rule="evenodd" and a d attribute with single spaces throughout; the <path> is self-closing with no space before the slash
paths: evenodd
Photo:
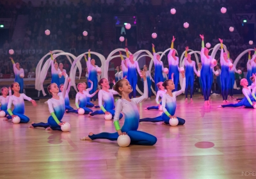
<path id="1" fill-rule="evenodd" d="M 86 58 L 86 54 L 84 54 L 84 59 L 86 61 L 86 65 L 87 65 L 88 72 L 89 72 L 88 79 L 90 79 L 90 81 L 92 81 L 92 83 L 88 83 L 88 86 L 90 88 L 92 84 L 95 84 L 95 85 L 93 85 L 93 89 L 90 91 L 90 95 L 92 95 L 97 90 L 97 85 L 96 85 L 98 83 L 97 74 L 100 74 L 100 72 L 97 73 L 97 69 L 99 68 L 99 66 L 95 65 L 95 59 L 91 60 L 90 49 L 88 52 L 89 52 L 88 60 Z M 95 96 L 95 95 L 93 95 L 93 97 L 91 98 L 93 103 L 95 102 L 96 99 L 97 99 L 97 96 Z"/>

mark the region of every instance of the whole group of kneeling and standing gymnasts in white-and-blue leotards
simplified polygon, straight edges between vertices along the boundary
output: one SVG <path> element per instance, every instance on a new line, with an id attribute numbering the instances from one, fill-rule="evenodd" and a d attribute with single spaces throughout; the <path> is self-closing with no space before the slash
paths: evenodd
<path id="1" fill-rule="evenodd" d="M 52 80 L 51 84 L 47 86 L 47 90 L 52 98 L 47 100 L 49 107 L 49 116 L 47 123 L 32 123 L 29 125 L 30 128 L 35 127 L 44 127 L 45 130 L 61 130 L 61 125 L 65 121 L 63 119 L 64 114 L 68 113 L 79 113 L 80 110 L 84 111 L 84 114 L 88 114 L 89 117 L 105 114 L 112 115 L 114 125 L 116 128 L 115 133 L 102 132 L 100 134 L 90 134 L 86 137 L 82 137 L 81 140 L 94 140 L 94 139 L 109 139 L 111 141 L 116 141 L 118 136 L 127 134 L 131 138 L 131 144 L 140 144 L 140 145 L 154 145 L 157 141 L 155 136 L 147 134 L 145 132 L 138 131 L 138 125 L 141 121 L 150 121 L 150 122 L 159 122 L 163 121 L 165 124 L 169 124 L 171 118 L 177 118 L 179 121 L 178 125 L 184 125 L 185 120 L 175 116 L 176 111 L 176 98 L 181 93 L 185 92 L 186 101 L 188 101 L 188 89 L 190 86 L 190 100 L 192 100 L 193 95 L 193 84 L 195 75 L 200 77 L 200 83 L 202 82 L 202 94 L 204 95 L 205 105 L 210 105 L 209 97 L 211 95 L 211 86 L 213 81 L 213 74 L 220 74 L 221 81 L 221 95 L 223 97 L 223 102 L 227 102 L 228 91 L 230 86 L 234 85 L 234 72 L 241 73 L 236 71 L 232 65 L 232 59 L 229 59 L 229 55 L 223 52 L 223 41 L 220 39 L 221 43 L 221 55 L 220 55 L 220 64 L 221 64 L 221 73 L 214 71 L 214 66 L 217 65 L 217 61 L 212 59 L 209 56 L 209 51 L 204 47 L 204 35 L 200 35 L 202 38 L 202 49 L 201 49 L 201 61 L 202 63 L 198 64 L 198 70 L 196 70 L 195 61 L 191 60 L 191 55 L 188 54 L 188 47 L 186 47 L 184 66 L 185 70 L 182 67 L 179 67 L 179 58 L 175 56 L 176 52 L 173 48 L 173 43 L 175 38 L 173 36 L 172 45 L 170 52 L 168 54 L 168 63 L 169 70 L 164 70 L 163 62 L 159 54 L 156 54 L 154 49 L 154 44 L 152 44 L 152 51 L 154 56 L 154 82 L 156 84 L 156 106 L 147 107 L 147 110 L 152 109 L 161 109 L 163 114 L 161 116 L 156 116 L 156 118 L 143 118 L 140 119 L 140 114 L 137 108 L 137 104 L 143 102 L 143 100 L 151 97 L 151 78 L 150 72 L 148 71 L 147 65 L 144 66 L 143 70 L 140 70 L 138 61 L 134 61 L 133 55 L 129 54 L 128 49 L 126 49 L 126 57 L 123 58 L 122 53 L 120 52 L 121 66 L 116 68 L 117 73 L 115 74 L 115 85 L 113 89 L 110 89 L 109 81 L 106 78 L 102 78 L 98 81 L 97 75 L 100 74 L 98 68 L 99 66 L 95 65 L 95 59 L 91 59 L 90 50 L 88 52 L 88 59 L 84 54 L 84 59 L 86 61 L 88 69 L 88 87 L 86 89 L 86 83 L 77 84 L 78 92 L 76 94 L 76 107 L 73 109 L 70 106 L 70 101 L 68 98 L 68 93 L 70 91 L 71 83 L 70 78 L 67 75 L 66 70 L 63 69 L 63 65 L 60 63 L 54 62 L 54 57 L 51 53 L 51 72 Z M 250 54 L 250 52 L 249 52 Z M 256 49 L 255 49 L 256 54 Z M 11 58 L 12 59 L 12 58 Z M 20 68 L 19 63 L 13 63 L 13 70 L 15 72 L 15 82 L 11 85 L 10 88 L 2 88 L 0 96 L 1 102 L 1 111 L 4 111 L 6 114 L 5 120 L 10 120 L 15 116 L 19 116 L 20 123 L 28 123 L 28 116 L 24 115 L 24 99 L 30 101 L 34 106 L 36 106 L 35 100 L 27 97 L 23 93 L 23 78 L 24 70 Z M 244 105 L 245 107 L 253 107 L 255 98 L 255 73 L 256 73 L 256 55 L 253 55 L 251 59 L 249 56 L 248 60 L 248 75 L 250 79 L 241 79 L 241 86 L 243 86 L 244 98 L 241 102 L 237 104 L 227 104 L 221 105 L 220 107 L 238 107 Z M 136 84 L 137 84 L 137 72 L 143 79 L 144 91 L 141 97 L 136 98 Z M 164 80 L 163 74 L 168 74 L 168 79 Z M 23 74 L 23 75 L 22 75 Z M 178 90 L 179 77 L 182 76 L 182 87 Z M 250 85 L 250 81 L 252 84 Z M 248 86 L 250 85 L 250 86 Z M 97 89 L 97 86 L 100 86 L 100 90 Z M 13 95 L 12 95 L 13 91 Z M 98 93 L 99 92 L 99 93 Z M 9 93 L 9 95 L 8 95 Z M 99 106 L 95 106 L 95 102 L 98 93 Z M 121 98 L 117 100 L 116 105 L 114 102 L 114 95 L 120 95 Z M 232 94 L 230 94 L 232 95 Z M 159 102 L 159 97 L 161 97 L 161 102 Z M 104 102 L 104 103 L 102 103 Z M 12 104 L 14 105 L 13 111 Z M 100 110 L 93 111 L 90 108 L 99 107 Z M 124 113 L 125 122 L 121 128 L 119 125 L 119 120 L 122 119 Z"/>

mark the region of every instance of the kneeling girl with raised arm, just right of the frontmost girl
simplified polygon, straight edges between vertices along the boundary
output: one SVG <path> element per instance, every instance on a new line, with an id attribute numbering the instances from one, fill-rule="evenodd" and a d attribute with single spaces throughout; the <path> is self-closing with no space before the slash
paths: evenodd
<path id="1" fill-rule="evenodd" d="M 175 84 L 173 83 L 173 81 L 171 79 L 164 81 L 163 86 L 166 89 L 166 93 L 164 93 L 162 98 L 163 114 L 156 118 L 141 119 L 140 122 L 149 121 L 149 122 L 155 123 L 159 121 L 164 121 L 165 124 L 169 124 L 170 118 L 177 118 L 179 120 L 178 125 L 184 125 L 185 120 L 174 116 L 176 111 L 176 97 L 181 93 L 184 93 L 186 88 L 186 78 L 184 73 L 182 73 L 182 78 L 183 78 L 182 88 L 179 91 L 175 91 L 175 92 L 172 92 L 172 90 L 175 89 Z"/>

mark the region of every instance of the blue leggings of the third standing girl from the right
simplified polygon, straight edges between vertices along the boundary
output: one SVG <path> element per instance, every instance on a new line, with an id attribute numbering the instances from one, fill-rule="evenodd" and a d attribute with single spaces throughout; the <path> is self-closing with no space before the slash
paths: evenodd
<path id="1" fill-rule="evenodd" d="M 212 86 L 211 68 L 204 69 L 204 65 L 203 65 L 200 78 L 202 80 L 202 91 L 204 95 L 204 100 L 209 100 L 209 97 L 211 95 L 211 86 Z"/>

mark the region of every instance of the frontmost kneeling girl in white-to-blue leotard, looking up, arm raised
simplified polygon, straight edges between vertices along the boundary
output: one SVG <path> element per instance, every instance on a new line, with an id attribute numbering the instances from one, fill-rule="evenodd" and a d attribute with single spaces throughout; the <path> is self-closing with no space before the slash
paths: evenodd
<path id="1" fill-rule="evenodd" d="M 116 112 L 114 117 L 114 125 L 116 128 L 115 133 L 102 132 L 100 134 L 90 134 L 86 137 L 82 137 L 81 140 L 95 140 L 95 139 L 108 139 L 110 141 L 116 141 L 120 135 L 128 135 L 131 138 L 131 144 L 138 145 L 154 145 L 157 138 L 146 132 L 138 131 L 140 113 L 138 111 L 137 104 L 143 102 L 148 98 L 148 88 L 145 72 L 141 72 L 144 79 L 144 94 L 139 98 L 129 98 L 129 94 L 132 92 L 131 84 L 126 79 L 121 79 L 116 82 L 114 89 L 122 98 L 116 102 Z M 121 111 L 125 115 L 125 121 L 122 128 L 119 125 L 119 118 Z"/>

